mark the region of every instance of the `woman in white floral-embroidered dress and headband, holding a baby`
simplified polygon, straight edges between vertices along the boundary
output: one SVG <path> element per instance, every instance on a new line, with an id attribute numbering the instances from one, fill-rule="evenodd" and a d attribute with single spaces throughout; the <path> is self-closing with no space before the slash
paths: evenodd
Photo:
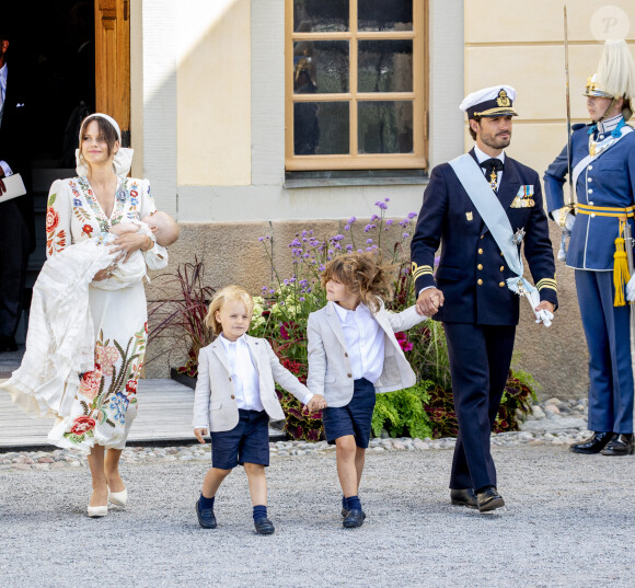
<path id="1" fill-rule="evenodd" d="M 91 115 L 80 131 L 78 177 L 58 180 L 50 187 L 46 215 L 47 256 L 71 243 L 99 239 L 113 224 L 155 210 L 147 180 L 126 177 L 131 149 L 120 148 L 120 131 L 106 115 Z M 115 246 L 127 260 L 146 252 L 154 268 L 168 264 L 168 254 L 149 237 L 119 235 Z M 111 269 L 95 274 L 107 279 Z M 119 458 L 137 414 L 137 381 L 143 364 L 148 314 L 143 284 L 107 290 L 89 288 L 95 341 L 94 369 L 80 378 L 70 415 L 58 418 L 49 440 L 64 448 L 90 451 L 93 493 L 89 516 L 107 514 L 108 500 L 124 506 L 127 491 L 119 475 Z"/>

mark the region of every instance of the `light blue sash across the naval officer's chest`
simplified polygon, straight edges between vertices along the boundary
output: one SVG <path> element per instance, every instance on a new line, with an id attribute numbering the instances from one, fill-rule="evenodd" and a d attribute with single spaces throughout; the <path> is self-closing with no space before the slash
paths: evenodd
<path id="1" fill-rule="evenodd" d="M 535 291 L 535 287 L 522 277 L 524 268 L 519 246 L 513 243 L 513 231 L 509 218 L 500 200 L 492 191 L 489 182 L 485 180 L 481 166 L 469 153 L 463 153 L 449 163 L 489 229 L 496 244 L 500 247 L 507 265 L 516 274 L 516 277 L 507 278 L 507 287 L 519 296 Z"/>

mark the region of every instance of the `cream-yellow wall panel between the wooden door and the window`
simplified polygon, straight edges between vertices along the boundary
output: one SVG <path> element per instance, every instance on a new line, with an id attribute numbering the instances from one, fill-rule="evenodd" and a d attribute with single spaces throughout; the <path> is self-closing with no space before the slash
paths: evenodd
<path id="1" fill-rule="evenodd" d="M 250 9 L 250 0 L 178 3 L 180 186 L 251 184 Z"/>

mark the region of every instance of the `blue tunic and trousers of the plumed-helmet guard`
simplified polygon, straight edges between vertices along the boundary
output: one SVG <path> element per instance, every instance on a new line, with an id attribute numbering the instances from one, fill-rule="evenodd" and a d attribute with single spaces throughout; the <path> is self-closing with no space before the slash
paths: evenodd
<path id="1" fill-rule="evenodd" d="M 572 170 L 589 154 L 589 126 L 575 125 Z M 607 134 L 608 136 L 608 134 Z M 602 140 L 603 132 L 597 137 Z M 544 175 L 547 210 L 564 206 L 567 149 Z M 576 269 L 578 303 L 589 348 L 589 429 L 633 433 L 633 368 L 628 307 L 613 307 L 613 254 L 620 221 L 615 209 L 635 204 L 635 132 L 624 135 L 580 173 L 567 266 Z M 612 210 L 605 210 L 612 209 Z M 633 219 L 630 219 L 633 226 Z"/>

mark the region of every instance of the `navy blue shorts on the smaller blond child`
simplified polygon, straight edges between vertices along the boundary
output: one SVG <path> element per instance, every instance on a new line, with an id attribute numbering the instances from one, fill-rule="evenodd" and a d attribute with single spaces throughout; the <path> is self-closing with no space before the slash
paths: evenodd
<path id="1" fill-rule="evenodd" d="M 269 465 L 269 415 L 266 411 L 239 408 L 231 430 L 211 431 L 211 466 L 231 470 L 243 463 Z"/>

